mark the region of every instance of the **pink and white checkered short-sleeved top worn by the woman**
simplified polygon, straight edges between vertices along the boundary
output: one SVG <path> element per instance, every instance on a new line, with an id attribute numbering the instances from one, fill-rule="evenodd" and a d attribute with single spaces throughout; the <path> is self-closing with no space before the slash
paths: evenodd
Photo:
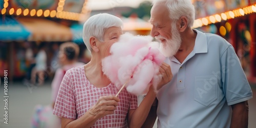
<path id="1" fill-rule="evenodd" d="M 101 96 L 116 95 L 118 89 L 113 83 L 104 88 L 96 88 L 86 78 L 84 67 L 68 70 L 61 82 L 53 114 L 59 117 L 78 119 L 86 113 Z M 127 113 L 137 108 L 137 96 L 123 90 L 120 102 L 112 115 L 98 119 L 92 127 L 128 127 Z"/>

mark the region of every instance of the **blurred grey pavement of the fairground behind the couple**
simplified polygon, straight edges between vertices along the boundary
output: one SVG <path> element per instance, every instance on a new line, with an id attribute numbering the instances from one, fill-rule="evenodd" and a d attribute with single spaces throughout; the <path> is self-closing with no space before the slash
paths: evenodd
<path id="1" fill-rule="evenodd" d="M 254 97 L 249 100 L 249 128 L 256 126 L 256 84 L 251 84 Z M 37 104 L 48 105 L 51 99 L 51 86 L 46 82 L 44 86 L 25 86 L 22 83 L 9 84 L 8 124 L 4 124 L 4 87 L 0 87 L 0 127 L 29 128 L 34 106 Z"/>

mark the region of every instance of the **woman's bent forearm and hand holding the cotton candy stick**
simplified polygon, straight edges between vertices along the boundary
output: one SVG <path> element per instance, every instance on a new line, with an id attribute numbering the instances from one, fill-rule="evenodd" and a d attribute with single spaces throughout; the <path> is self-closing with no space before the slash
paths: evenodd
<path id="1" fill-rule="evenodd" d="M 80 118 L 73 120 L 68 118 L 61 118 L 61 127 L 91 127 L 99 118 L 114 114 L 116 106 L 118 105 L 119 98 L 115 96 L 102 96 L 97 103 L 88 110 Z"/>

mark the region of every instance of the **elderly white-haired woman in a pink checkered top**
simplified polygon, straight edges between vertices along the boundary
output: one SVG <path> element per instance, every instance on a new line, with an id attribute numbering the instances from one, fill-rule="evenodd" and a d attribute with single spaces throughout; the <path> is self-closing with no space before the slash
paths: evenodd
<path id="1" fill-rule="evenodd" d="M 153 89 L 139 107 L 137 96 L 118 89 L 102 72 L 101 60 L 122 34 L 122 20 L 110 14 L 90 17 L 83 41 L 92 54 L 87 65 L 68 70 L 61 82 L 54 114 L 61 127 L 141 127 L 155 101 Z M 163 85 L 163 83 L 161 83 Z M 153 105 L 154 106 L 154 105 Z"/>

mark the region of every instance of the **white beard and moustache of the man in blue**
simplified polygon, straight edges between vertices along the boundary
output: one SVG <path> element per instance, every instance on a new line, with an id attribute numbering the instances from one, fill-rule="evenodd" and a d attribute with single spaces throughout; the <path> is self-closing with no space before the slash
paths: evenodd
<path id="1" fill-rule="evenodd" d="M 172 38 L 171 39 L 165 39 L 161 35 L 158 35 L 156 37 L 157 39 L 163 38 L 166 40 L 166 42 L 160 44 L 160 48 L 159 48 L 160 52 L 165 57 L 174 56 L 178 52 L 180 45 L 181 45 L 180 33 L 176 29 L 177 27 L 175 24 L 173 24 L 172 26 L 173 27 L 172 27 Z"/>

